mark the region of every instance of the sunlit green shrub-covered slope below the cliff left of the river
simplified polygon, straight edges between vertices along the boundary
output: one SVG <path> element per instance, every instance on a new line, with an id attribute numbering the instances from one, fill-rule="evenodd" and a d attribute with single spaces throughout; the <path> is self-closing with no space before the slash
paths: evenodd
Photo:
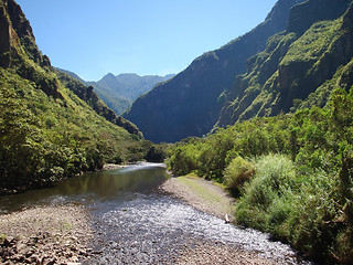
<path id="1" fill-rule="evenodd" d="M 153 147 L 90 108 L 52 73 L 58 97 L 0 68 L 0 189 L 42 187 L 104 163 L 142 160 Z M 50 86 L 53 87 L 53 86 Z"/>

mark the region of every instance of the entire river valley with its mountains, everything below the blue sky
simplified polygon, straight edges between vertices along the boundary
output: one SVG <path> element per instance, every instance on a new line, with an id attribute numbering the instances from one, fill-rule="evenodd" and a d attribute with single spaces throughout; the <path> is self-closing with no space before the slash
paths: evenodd
<path id="1" fill-rule="evenodd" d="M 278 0 L 175 75 L 54 67 L 15 0 L 0 35 L 1 263 L 352 263 L 351 0 Z"/>

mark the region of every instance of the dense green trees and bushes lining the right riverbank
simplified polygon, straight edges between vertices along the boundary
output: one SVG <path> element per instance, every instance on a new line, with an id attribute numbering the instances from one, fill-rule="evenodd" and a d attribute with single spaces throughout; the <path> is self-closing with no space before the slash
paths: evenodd
<path id="1" fill-rule="evenodd" d="M 178 142 L 168 165 L 176 174 L 193 172 L 237 191 L 239 224 L 311 257 L 353 261 L 353 88 L 335 89 L 324 108 Z"/>

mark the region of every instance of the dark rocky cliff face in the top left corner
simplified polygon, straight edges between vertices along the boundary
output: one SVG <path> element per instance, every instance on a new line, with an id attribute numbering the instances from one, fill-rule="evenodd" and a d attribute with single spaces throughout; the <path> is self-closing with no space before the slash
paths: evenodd
<path id="1" fill-rule="evenodd" d="M 21 77 L 35 82 L 46 95 L 62 98 L 57 81 L 38 73 L 29 63 L 32 61 L 51 71 L 50 60 L 39 51 L 30 22 L 20 6 L 13 0 L 1 0 L 0 21 L 0 66 L 17 68 Z"/>

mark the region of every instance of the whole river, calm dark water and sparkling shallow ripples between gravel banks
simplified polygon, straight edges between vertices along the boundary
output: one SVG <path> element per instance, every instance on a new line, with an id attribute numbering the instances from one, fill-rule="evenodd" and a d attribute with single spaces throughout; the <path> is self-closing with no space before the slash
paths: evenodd
<path id="1" fill-rule="evenodd" d="M 97 231 L 92 247 L 99 253 L 85 264 L 170 264 L 183 248 L 200 242 L 226 244 L 258 253 L 278 264 L 299 261 L 267 234 L 226 224 L 159 189 L 168 179 L 161 165 L 87 173 L 54 188 L 0 198 L 0 213 L 33 205 L 86 205 Z"/>

